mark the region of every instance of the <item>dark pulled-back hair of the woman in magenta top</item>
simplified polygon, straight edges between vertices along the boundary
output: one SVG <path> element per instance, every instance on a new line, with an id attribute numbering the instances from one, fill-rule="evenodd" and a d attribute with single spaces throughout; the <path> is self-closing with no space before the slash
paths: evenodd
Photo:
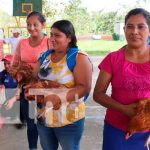
<path id="1" fill-rule="evenodd" d="M 147 25 L 150 29 L 150 13 L 143 8 L 135 8 L 135 9 L 130 10 L 125 17 L 125 25 L 131 16 L 139 15 L 139 14 L 143 15 L 143 17 L 145 18 Z"/>

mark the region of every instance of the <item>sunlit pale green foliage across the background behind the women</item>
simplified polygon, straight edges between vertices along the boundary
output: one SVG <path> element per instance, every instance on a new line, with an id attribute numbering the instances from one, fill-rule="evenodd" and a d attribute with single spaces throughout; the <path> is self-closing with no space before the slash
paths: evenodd
<path id="1" fill-rule="evenodd" d="M 75 26 L 78 35 L 112 35 L 114 33 L 115 23 L 123 22 L 127 12 L 139 5 L 139 1 L 136 0 L 133 6 L 120 5 L 119 11 L 105 12 L 105 10 L 100 10 L 89 13 L 87 8 L 82 6 L 81 0 L 69 0 L 68 3 L 57 2 L 55 0 L 42 0 L 42 10 L 46 16 L 48 27 L 56 20 L 68 19 Z M 26 26 L 25 20 L 26 18 L 21 19 L 22 26 Z M 8 27 L 15 26 L 17 26 L 15 18 L 0 10 L 0 27 L 5 27 L 6 32 Z M 117 39 L 117 35 L 113 34 L 113 37 Z"/>

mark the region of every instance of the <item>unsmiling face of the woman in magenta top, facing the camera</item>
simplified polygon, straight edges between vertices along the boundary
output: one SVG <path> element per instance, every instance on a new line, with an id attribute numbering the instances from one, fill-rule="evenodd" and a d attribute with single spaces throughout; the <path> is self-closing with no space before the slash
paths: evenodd
<path id="1" fill-rule="evenodd" d="M 142 14 L 129 17 L 124 31 L 128 45 L 134 48 L 145 45 L 150 35 L 148 24 Z"/>

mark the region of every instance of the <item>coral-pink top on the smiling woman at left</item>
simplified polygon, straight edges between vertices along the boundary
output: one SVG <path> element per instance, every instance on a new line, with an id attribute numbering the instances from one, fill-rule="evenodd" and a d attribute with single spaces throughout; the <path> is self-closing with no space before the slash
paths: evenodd
<path id="1" fill-rule="evenodd" d="M 29 44 L 29 39 L 22 39 L 19 42 L 18 48 L 15 52 L 14 63 L 24 61 L 34 68 L 41 52 L 44 52 L 48 49 L 47 40 L 48 37 L 44 36 L 40 45 L 31 47 Z"/>

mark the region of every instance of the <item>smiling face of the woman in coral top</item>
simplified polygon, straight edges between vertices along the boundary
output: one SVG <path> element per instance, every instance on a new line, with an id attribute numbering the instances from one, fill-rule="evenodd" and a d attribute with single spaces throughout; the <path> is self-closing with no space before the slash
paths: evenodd
<path id="1" fill-rule="evenodd" d="M 39 21 L 38 16 L 31 16 L 27 20 L 27 30 L 33 37 L 41 35 L 44 25 Z"/>

